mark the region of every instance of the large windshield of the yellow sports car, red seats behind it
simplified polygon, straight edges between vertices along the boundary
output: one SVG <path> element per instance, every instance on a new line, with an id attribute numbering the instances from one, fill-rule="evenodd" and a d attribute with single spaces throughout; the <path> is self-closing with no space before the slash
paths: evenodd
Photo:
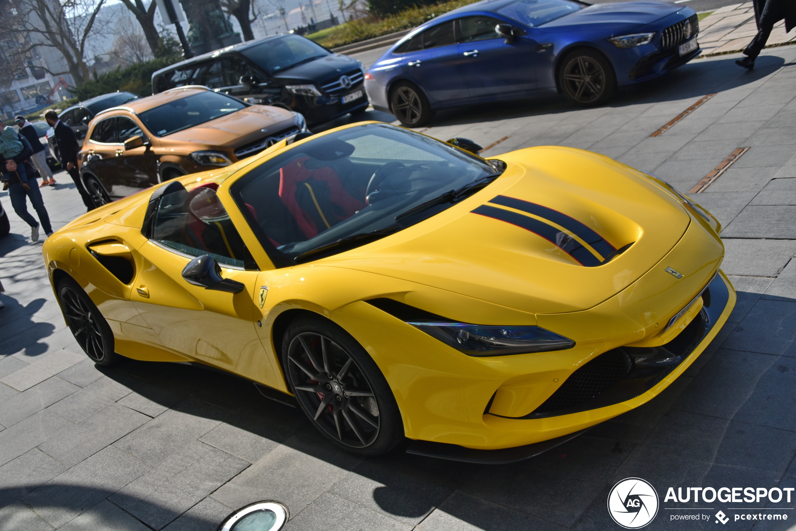
<path id="1" fill-rule="evenodd" d="M 384 236 L 422 221 L 454 202 L 429 201 L 494 176 L 486 161 L 450 144 L 366 124 L 264 162 L 232 185 L 232 197 L 275 262 L 285 262 L 338 240 L 374 231 Z"/>

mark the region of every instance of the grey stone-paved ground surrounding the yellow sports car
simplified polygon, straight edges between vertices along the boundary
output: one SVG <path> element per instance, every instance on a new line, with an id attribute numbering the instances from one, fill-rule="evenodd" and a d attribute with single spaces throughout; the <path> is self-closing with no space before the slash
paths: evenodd
<path id="1" fill-rule="evenodd" d="M 544 144 L 593 150 L 684 193 L 750 146 L 692 194 L 724 225 L 724 270 L 739 295 L 719 336 L 654 400 L 510 466 L 359 459 L 228 375 L 142 361 L 97 368 L 64 326 L 41 244 L 30 244 L 0 193 L 13 232 L 0 240 L 0 529 L 212 531 L 233 509 L 269 498 L 289 506 L 289 531 L 617 529 L 606 499 L 622 478 L 645 478 L 659 494 L 796 486 L 796 47 L 766 50 L 751 72 L 735 59 L 693 61 L 604 107 L 540 97 L 440 112 L 423 129 L 484 146 L 502 139 L 485 153 L 494 156 Z M 73 185 L 43 193 L 56 227 L 83 211 Z M 661 510 L 648 528 L 673 525 Z"/>

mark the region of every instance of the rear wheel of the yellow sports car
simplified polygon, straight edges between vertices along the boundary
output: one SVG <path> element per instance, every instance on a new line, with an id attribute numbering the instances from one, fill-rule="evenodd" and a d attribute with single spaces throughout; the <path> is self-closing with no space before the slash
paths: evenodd
<path id="1" fill-rule="evenodd" d="M 88 357 L 103 367 L 118 363 L 121 356 L 114 351 L 111 326 L 80 284 L 64 277 L 58 285 L 58 299 L 69 330 Z"/>

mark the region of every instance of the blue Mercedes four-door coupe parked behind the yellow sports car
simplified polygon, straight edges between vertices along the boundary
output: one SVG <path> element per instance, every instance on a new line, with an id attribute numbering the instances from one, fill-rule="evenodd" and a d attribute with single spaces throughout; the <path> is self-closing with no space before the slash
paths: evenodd
<path id="1" fill-rule="evenodd" d="M 563 92 L 599 105 L 700 53 L 690 7 L 483 0 L 427 21 L 365 74 L 373 107 L 421 126 L 443 107 Z"/>

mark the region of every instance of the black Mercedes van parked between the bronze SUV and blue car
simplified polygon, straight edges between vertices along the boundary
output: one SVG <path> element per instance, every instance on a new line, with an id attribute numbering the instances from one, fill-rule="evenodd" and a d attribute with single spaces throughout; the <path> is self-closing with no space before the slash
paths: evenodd
<path id="1" fill-rule="evenodd" d="M 162 68 L 152 74 L 152 92 L 204 85 L 248 103 L 300 112 L 312 124 L 365 111 L 364 79 L 356 59 L 281 33 Z"/>

